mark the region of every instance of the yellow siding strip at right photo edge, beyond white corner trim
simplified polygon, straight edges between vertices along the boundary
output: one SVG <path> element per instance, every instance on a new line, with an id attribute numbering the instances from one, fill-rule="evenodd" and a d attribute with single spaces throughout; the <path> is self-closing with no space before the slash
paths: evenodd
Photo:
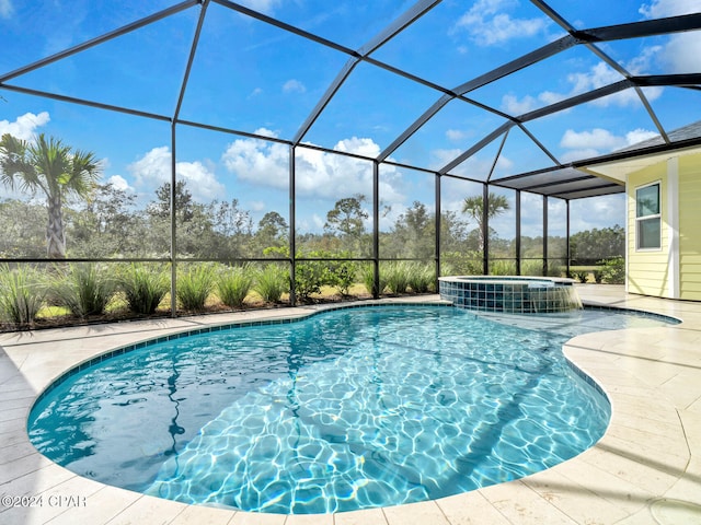
<path id="1" fill-rule="evenodd" d="M 679 293 L 701 301 L 701 154 L 679 158 Z"/>

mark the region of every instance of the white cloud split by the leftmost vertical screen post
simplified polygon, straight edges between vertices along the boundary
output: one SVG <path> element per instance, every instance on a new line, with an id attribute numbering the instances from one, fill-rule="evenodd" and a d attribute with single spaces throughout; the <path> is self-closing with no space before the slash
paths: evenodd
<path id="1" fill-rule="evenodd" d="M 141 159 L 127 166 L 136 179 L 139 189 L 156 189 L 171 180 L 171 152 L 166 145 L 153 148 Z M 175 174 L 187 184 L 195 200 L 209 201 L 220 198 L 226 188 L 219 183 L 211 170 L 202 162 L 177 162 Z"/>

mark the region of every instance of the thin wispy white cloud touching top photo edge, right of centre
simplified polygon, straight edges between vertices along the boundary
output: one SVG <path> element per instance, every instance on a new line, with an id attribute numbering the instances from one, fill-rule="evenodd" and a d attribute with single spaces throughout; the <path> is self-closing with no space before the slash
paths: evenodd
<path id="1" fill-rule="evenodd" d="M 502 44 L 514 38 L 527 38 L 547 30 L 544 16 L 514 19 L 505 12 L 518 7 L 515 0 L 478 0 L 456 23 L 455 30 L 466 30 L 480 46 Z"/>

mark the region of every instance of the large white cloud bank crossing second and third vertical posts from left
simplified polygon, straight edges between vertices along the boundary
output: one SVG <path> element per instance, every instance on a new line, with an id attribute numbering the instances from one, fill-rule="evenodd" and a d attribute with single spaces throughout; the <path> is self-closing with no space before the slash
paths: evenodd
<path id="1" fill-rule="evenodd" d="M 258 130 L 257 135 L 262 135 Z M 375 158 L 380 147 L 371 139 L 353 137 L 336 143 L 336 151 Z M 241 180 L 287 190 L 289 180 L 289 148 L 258 139 L 238 139 L 222 155 L 227 170 Z M 338 199 L 372 190 L 372 165 L 360 159 L 337 155 L 310 148 L 297 148 L 295 159 L 296 190 L 302 197 Z M 398 189 L 401 174 L 393 166 L 382 171 L 380 191 L 383 199 L 403 200 Z"/>

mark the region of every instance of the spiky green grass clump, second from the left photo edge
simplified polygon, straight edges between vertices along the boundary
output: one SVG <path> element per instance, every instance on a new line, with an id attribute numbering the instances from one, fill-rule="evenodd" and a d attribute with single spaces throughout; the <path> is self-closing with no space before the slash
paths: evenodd
<path id="1" fill-rule="evenodd" d="M 101 315 L 116 291 L 106 268 L 94 264 L 70 264 L 68 271 L 50 285 L 51 303 L 79 317 Z"/>

